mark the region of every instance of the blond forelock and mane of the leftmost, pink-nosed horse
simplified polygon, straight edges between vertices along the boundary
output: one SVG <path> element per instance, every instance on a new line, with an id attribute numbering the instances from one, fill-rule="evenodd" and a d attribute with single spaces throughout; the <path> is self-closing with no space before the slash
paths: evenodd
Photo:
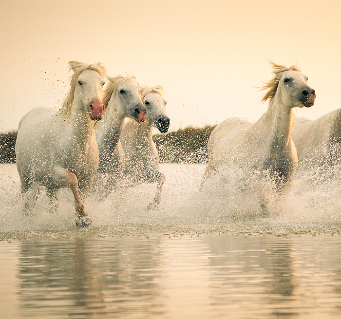
<path id="1" fill-rule="evenodd" d="M 98 62 L 95 64 L 86 64 L 83 62 L 77 62 L 77 61 L 70 61 L 69 62 L 69 71 L 74 70 L 75 73 L 71 76 L 71 85 L 70 85 L 70 91 L 66 95 L 63 104 L 60 109 L 59 115 L 61 117 L 68 117 L 71 114 L 72 105 L 75 98 L 75 90 L 76 90 L 76 84 L 77 84 L 77 78 L 78 76 L 85 70 L 95 70 L 98 72 L 98 74 L 104 78 L 107 75 L 107 71 L 102 65 L 102 63 Z"/>

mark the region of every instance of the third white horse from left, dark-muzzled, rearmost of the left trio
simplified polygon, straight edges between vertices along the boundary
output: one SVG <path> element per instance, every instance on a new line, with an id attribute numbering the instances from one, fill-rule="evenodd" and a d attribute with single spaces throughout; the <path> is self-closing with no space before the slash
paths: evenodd
<path id="1" fill-rule="evenodd" d="M 123 126 L 122 143 L 126 169 L 125 174 L 133 184 L 157 183 L 154 200 L 147 207 L 156 208 L 161 199 L 165 175 L 160 171 L 159 153 L 152 139 L 153 128 L 166 133 L 170 118 L 166 114 L 166 100 L 162 86 L 143 87 L 142 100 L 147 108 L 146 121 L 137 123 L 128 119 Z"/>

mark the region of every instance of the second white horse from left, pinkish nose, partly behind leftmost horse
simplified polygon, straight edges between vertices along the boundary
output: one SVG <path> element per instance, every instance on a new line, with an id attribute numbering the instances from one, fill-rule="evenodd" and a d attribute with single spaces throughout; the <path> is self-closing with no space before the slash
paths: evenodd
<path id="1" fill-rule="evenodd" d="M 116 187 L 125 167 L 124 153 L 119 143 L 124 120 L 130 117 L 136 122 L 144 122 L 147 113 L 141 100 L 142 90 L 136 84 L 135 76 L 108 78 L 109 84 L 104 90 L 103 120 L 96 125 L 98 172 L 104 173 L 107 179 L 107 193 Z"/>

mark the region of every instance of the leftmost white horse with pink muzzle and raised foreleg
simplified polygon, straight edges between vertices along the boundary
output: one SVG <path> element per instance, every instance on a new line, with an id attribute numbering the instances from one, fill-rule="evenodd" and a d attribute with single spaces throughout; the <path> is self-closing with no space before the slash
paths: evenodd
<path id="1" fill-rule="evenodd" d="M 26 113 L 19 122 L 15 151 L 21 193 L 35 182 L 46 187 L 52 201 L 59 188 L 71 188 L 76 224 L 86 226 L 91 220 L 85 218 L 88 213 L 82 197 L 88 193 L 98 167 L 94 125 L 102 118 L 106 70 L 100 63 L 70 61 L 69 65 L 74 74 L 60 111 L 38 107 Z M 30 208 L 28 201 L 25 207 Z"/>

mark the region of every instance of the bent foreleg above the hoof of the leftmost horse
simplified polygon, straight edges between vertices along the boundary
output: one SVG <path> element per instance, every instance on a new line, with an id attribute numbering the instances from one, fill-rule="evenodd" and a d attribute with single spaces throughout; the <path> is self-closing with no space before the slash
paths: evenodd
<path id="1" fill-rule="evenodd" d="M 78 180 L 76 175 L 74 173 L 69 172 L 67 169 L 63 169 L 60 166 L 55 166 L 52 169 L 51 175 L 52 178 L 54 179 L 54 182 L 59 187 L 69 187 L 72 190 L 75 197 L 76 216 L 78 218 L 87 216 L 88 213 L 86 212 L 83 201 L 79 195 Z"/>

